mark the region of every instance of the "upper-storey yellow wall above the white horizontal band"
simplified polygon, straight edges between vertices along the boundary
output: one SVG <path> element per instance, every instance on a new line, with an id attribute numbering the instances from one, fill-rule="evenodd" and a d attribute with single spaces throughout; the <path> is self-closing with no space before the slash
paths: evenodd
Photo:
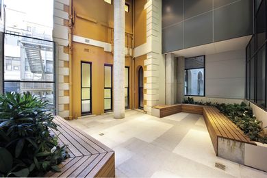
<path id="1" fill-rule="evenodd" d="M 133 34 L 132 1 L 127 0 L 130 12 L 125 12 L 125 31 Z M 73 34 L 103 42 L 111 42 L 113 36 L 113 5 L 104 0 L 75 0 L 75 25 Z"/>

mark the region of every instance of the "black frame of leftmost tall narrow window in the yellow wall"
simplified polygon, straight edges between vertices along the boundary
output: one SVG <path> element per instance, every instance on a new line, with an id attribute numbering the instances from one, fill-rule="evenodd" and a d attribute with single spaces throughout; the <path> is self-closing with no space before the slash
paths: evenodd
<path id="1" fill-rule="evenodd" d="M 82 86 L 82 64 L 90 64 L 90 87 L 83 87 Z M 90 88 L 90 99 L 82 99 L 82 89 L 83 88 Z M 82 101 L 90 100 L 90 112 L 83 112 L 82 111 Z M 92 62 L 88 61 L 81 61 L 81 116 L 87 116 L 92 114 Z"/>

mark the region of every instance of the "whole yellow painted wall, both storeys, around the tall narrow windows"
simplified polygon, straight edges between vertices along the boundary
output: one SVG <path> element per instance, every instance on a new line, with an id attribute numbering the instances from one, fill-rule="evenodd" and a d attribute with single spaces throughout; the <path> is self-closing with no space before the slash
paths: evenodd
<path id="1" fill-rule="evenodd" d="M 130 12 L 125 12 L 125 47 L 132 47 L 133 3 L 126 0 Z M 113 5 L 104 0 L 75 0 L 73 34 L 113 44 Z M 73 115 L 81 116 L 81 62 L 92 62 L 92 114 L 104 113 L 104 64 L 113 64 L 113 54 L 101 47 L 73 42 Z M 132 71 L 131 57 L 125 66 Z M 129 76 L 129 107 L 133 108 L 132 78 Z"/>

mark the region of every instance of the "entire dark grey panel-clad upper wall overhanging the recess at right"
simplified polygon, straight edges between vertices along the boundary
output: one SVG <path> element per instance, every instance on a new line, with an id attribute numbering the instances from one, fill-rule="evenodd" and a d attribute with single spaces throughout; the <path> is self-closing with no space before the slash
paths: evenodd
<path id="1" fill-rule="evenodd" d="M 163 53 L 252 33 L 251 0 L 162 1 Z"/>

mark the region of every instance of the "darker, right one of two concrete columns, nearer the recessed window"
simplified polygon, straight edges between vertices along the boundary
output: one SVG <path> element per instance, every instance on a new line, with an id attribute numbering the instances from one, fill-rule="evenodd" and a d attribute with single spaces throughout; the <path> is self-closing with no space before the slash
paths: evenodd
<path id="1" fill-rule="evenodd" d="M 184 58 L 179 57 L 177 64 L 177 103 L 182 103 L 184 97 L 184 65 Z"/>

